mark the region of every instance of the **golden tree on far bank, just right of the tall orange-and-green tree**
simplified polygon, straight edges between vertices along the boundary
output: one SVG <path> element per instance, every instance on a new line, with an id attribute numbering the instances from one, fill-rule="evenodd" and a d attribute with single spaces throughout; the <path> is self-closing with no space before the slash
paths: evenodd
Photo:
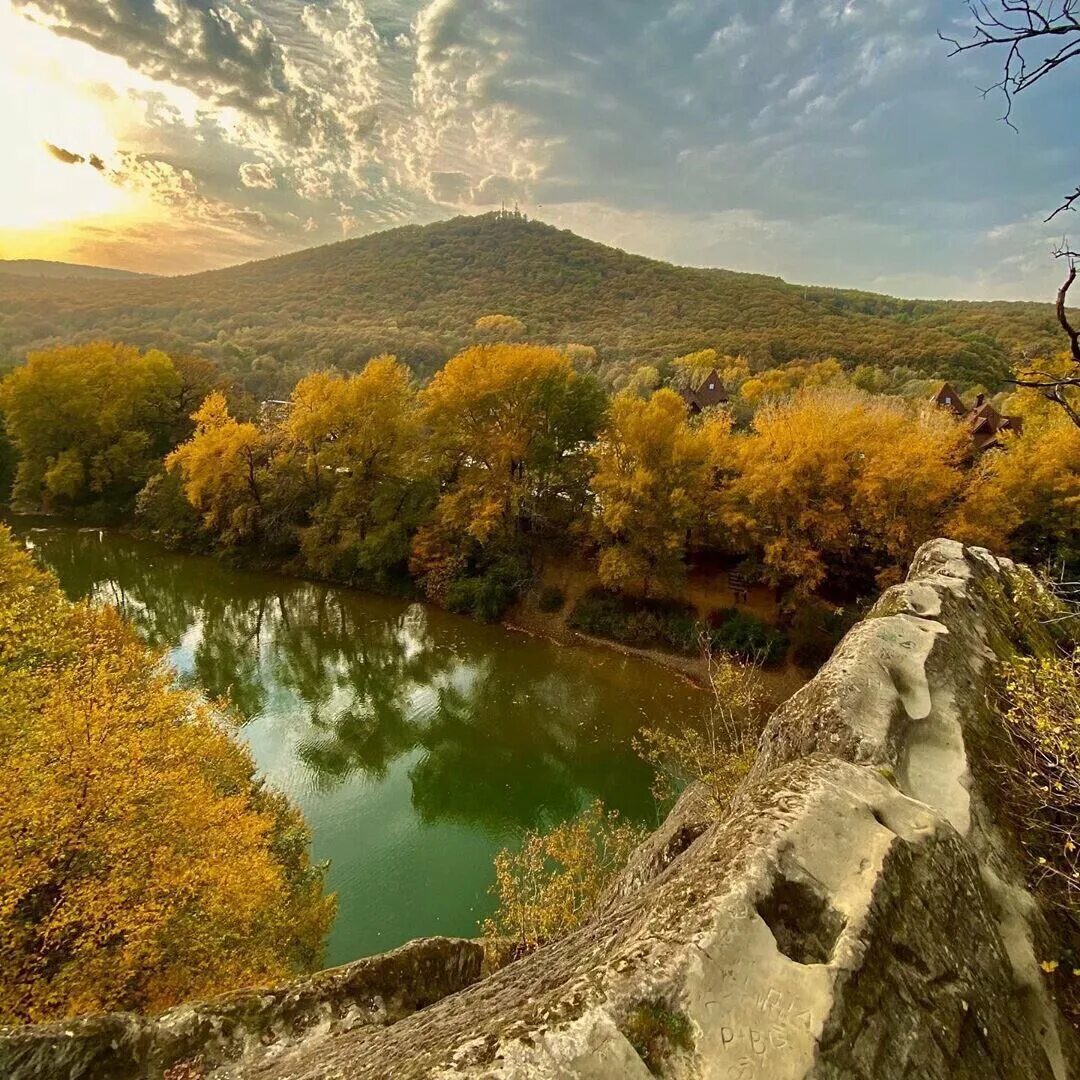
<path id="1" fill-rule="evenodd" d="M 648 400 L 620 394 L 592 450 L 599 576 L 617 589 L 648 593 L 683 573 L 687 538 L 705 524 L 713 473 L 730 422 L 717 416 L 691 427 L 672 390 Z"/>

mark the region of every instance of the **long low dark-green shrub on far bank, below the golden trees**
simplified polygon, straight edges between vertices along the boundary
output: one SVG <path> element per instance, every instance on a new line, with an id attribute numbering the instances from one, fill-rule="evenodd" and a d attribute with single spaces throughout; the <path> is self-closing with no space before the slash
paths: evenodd
<path id="1" fill-rule="evenodd" d="M 567 622 L 583 634 L 685 654 L 697 650 L 700 630 L 698 612 L 689 604 L 635 599 L 599 588 L 579 598 Z"/>

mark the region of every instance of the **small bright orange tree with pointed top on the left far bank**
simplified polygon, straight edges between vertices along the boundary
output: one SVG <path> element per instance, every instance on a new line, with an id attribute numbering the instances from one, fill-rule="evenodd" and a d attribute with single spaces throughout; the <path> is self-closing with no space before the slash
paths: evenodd
<path id="1" fill-rule="evenodd" d="M 212 535 L 226 544 L 249 541 L 266 510 L 267 436 L 256 424 L 234 420 L 219 391 L 193 419 L 194 434 L 170 454 L 166 468 L 181 477 L 186 498 Z"/>

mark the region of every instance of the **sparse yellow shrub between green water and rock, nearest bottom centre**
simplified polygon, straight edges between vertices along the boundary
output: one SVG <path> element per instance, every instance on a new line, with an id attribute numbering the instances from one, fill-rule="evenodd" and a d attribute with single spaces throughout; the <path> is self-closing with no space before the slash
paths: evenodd
<path id="1" fill-rule="evenodd" d="M 646 835 L 599 801 L 548 833 L 527 833 L 519 851 L 495 856 L 499 906 L 484 935 L 512 939 L 524 953 L 577 930 Z"/>

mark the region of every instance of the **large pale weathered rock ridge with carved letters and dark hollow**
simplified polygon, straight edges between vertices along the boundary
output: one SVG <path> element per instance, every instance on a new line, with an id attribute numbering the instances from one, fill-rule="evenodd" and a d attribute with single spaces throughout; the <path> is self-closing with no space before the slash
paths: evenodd
<path id="1" fill-rule="evenodd" d="M 1037 632 L 1009 603 L 1037 588 L 927 544 L 770 718 L 730 812 L 687 793 L 588 927 L 390 1026 L 309 1027 L 211 1075 L 1064 1080 L 993 779 L 994 663 Z"/>

